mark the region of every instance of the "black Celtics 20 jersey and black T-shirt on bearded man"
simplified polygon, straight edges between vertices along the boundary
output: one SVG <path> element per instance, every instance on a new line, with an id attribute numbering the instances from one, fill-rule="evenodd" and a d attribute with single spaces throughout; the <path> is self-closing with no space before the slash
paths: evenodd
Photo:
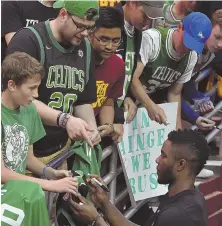
<path id="1" fill-rule="evenodd" d="M 65 49 L 52 34 L 49 21 L 33 26 L 39 33 L 44 46 L 46 76 L 39 87 L 39 100 L 48 106 L 63 112 L 72 112 L 73 104 L 91 104 L 96 101 L 96 82 L 94 78 L 95 62 L 91 49 L 89 80 L 86 81 L 86 41 L 79 46 Z M 23 28 L 12 38 L 6 54 L 16 51 L 26 52 L 37 60 L 40 57 L 40 45 L 35 34 Z M 55 153 L 65 145 L 68 139 L 66 130 L 45 126 L 46 136 L 34 144 L 36 157 L 45 157 Z"/>

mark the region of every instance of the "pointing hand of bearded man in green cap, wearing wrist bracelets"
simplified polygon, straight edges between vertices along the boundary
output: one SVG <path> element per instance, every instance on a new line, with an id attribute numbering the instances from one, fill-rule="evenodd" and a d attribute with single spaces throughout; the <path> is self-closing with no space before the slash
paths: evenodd
<path id="1" fill-rule="evenodd" d="M 84 120 L 71 116 L 66 124 L 66 130 L 71 140 L 84 140 L 90 147 L 93 147 L 93 143 L 87 133 L 89 126 Z"/>

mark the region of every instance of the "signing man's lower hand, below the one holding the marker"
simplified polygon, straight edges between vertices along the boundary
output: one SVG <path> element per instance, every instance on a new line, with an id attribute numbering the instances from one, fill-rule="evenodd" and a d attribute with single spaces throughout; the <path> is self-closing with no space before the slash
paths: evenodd
<path id="1" fill-rule="evenodd" d="M 98 212 L 96 208 L 93 206 L 93 204 L 86 200 L 83 196 L 78 194 L 77 197 L 80 200 L 79 204 L 74 202 L 72 198 L 69 198 L 68 202 L 70 209 L 76 216 L 81 218 L 86 224 L 91 225 L 93 221 L 96 219 Z"/>

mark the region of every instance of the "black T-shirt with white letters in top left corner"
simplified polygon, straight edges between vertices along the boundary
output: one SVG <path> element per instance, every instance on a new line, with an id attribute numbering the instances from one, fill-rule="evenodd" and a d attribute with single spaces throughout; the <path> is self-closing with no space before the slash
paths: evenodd
<path id="1" fill-rule="evenodd" d="M 3 1 L 1 7 L 2 60 L 7 48 L 5 35 L 49 18 L 56 18 L 59 12 L 59 10 L 47 7 L 39 1 Z"/>

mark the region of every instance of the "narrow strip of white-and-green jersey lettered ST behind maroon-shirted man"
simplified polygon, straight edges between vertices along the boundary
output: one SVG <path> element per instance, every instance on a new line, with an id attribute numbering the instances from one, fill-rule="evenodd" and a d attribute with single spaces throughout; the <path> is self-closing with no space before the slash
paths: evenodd
<path id="1" fill-rule="evenodd" d="M 126 34 L 126 50 L 125 50 L 125 80 L 123 85 L 123 95 L 119 97 L 118 99 L 118 105 L 120 106 L 125 99 L 125 96 L 127 94 L 129 84 L 132 78 L 133 74 L 133 67 L 134 67 L 134 57 L 135 57 L 135 44 L 134 44 L 134 35 L 135 35 L 135 28 L 130 25 L 127 21 L 125 21 L 124 30 Z M 120 46 L 120 48 L 116 51 L 117 55 L 118 51 L 123 50 L 123 45 Z M 120 56 L 122 58 L 122 56 Z"/>

